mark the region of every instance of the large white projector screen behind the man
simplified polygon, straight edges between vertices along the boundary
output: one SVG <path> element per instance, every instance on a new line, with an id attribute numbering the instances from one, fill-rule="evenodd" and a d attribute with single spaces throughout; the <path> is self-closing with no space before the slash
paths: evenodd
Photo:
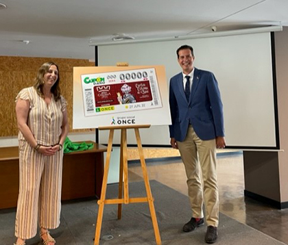
<path id="1" fill-rule="evenodd" d="M 194 49 L 194 66 L 215 74 L 224 104 L 227 148 L 278 149 L 276 89 L 272 69 L 270 32 L 98 46 L 98 65 L 164 65 L 167 83 L 182 70 L 176 49 L 189 44 Z M 160 116 L 160 115 L 159 115 Z M 116 136 L 119 138 L 119 136 Z M 106 144 L 108 132 L 99 131 L 99 143 Z M 145 146 L 168 146 L 168 126 L 141 131 Z M 128 131 L 128 144 L 135 144 Z M 117 144 L 117 140 L 115 141 Z"/>

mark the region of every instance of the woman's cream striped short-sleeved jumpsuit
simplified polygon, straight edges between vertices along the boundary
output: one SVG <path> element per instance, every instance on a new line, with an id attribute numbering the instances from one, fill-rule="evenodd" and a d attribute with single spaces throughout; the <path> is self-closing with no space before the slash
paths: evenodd
<path id="1" fill-rule="evenodd" d="M 38 144 L 58 144 L 62 132 L 62 112 L 66 101 L 61 96 L 47 105 L 33 87 L 24 88 L 16 96 L 29 100 L 27 125 Z M 56 229 L 60 225 L 63 150 L 45 156 L 26 142 L 19 131 L 19 198 L 16 211 L 15 235 L 29 239 L 40 227 Z"/>

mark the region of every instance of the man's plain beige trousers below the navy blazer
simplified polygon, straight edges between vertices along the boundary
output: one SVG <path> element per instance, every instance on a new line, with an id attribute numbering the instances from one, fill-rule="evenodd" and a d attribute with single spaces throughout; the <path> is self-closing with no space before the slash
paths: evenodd
<path id="1" fill-rule="evenodd" d="M 200 140 L 193 127 L 189 127 L 185 140 L 177 143 L 186 170 L 192 217 L 204 217 L 204 199 L 206 224 L 217 227 L 219 223 L 219 194 L 216 141 L 215 139 Z"/>

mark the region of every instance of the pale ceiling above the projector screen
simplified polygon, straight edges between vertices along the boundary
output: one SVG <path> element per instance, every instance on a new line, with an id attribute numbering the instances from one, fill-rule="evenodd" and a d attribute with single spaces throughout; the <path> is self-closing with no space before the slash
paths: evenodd
<path id="1" fill-rule="evenodd" d="M 0 0 L 0 55 L 95 59 L 91 44 L 288 26 L 287 0 Z M 23 40 L 29 40 L 25 44 Z"/>

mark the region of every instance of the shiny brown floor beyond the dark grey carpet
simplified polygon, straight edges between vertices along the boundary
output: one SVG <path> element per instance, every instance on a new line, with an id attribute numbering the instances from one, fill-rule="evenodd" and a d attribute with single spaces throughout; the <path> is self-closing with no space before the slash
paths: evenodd
<path id="1" fill-rule="evenodd" d="M 288 244 L 288 209 L 274 209 L 243 196 L 243 155 L 220 154 L 217 160 L 221 213 Z M 155 179 L 187 194 L 184 166 L 180 160 L 147 161 L 147 170 L 150 180 Z M 140 164 L 129 164 L 129 181 L 139 181 L 142 176 Z"/>

